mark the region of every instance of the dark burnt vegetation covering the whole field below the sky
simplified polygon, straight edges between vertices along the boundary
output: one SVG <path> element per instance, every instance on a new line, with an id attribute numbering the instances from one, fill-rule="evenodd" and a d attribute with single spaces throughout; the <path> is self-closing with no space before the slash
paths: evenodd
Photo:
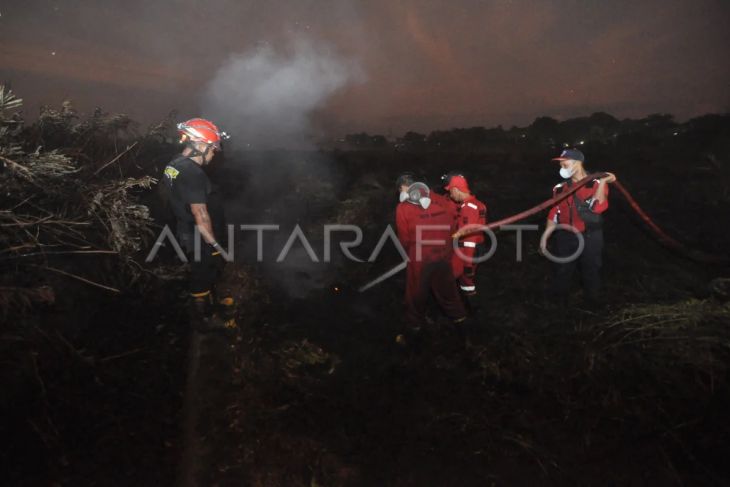
<path id="1" fill-rule="evenodd" d="M 178 151 L 171 119 L 142 131 L 65 103 L 25 124 L 20 107 L 0 90 L 2 480 L 169 485 L 184 449 L 186 285 L 169 249 L 144 257 L 168 221 L 155 183 Z M 318 253 L 322 224 L 357 224 L 354 252 L 367 259 L 391 222 L 398 172 L 435 183 L 462 169 L 496 220 L 550 196 L 546 161 L 563 143 L 615 172 L 684 243 L 730 248 L 727 115 L 355 134 L 319 151 L 228 151 L 212 179 L 232 223 L 300 224 Z M 197 481 L 729 482 L 727 267 L 662 248 L 611 204 L 605 308 L 585 309 L 579 291 L 570 309 L 543 303 L 537 236 L 515 262 L 515 235 L 500 234 L 479 270 L 481 328 L 466 351 L 437 309 L 421 353 L 395 346 L 402 277 L 356 292 L 398 263 L 393 249 L 374 263 L 277 267 L 257 264 L 255 237 L 237 235 L 225 285 L 240 329 L 202 353 Z"/>

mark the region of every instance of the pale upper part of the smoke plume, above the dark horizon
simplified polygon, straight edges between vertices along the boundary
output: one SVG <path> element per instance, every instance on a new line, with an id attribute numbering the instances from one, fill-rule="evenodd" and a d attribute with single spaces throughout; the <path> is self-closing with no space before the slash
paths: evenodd
<path id="1" fill-rule="evenodd" d="M 299 39 L 287 52 L 258 47 L 218 70 L 205 90 L 203 112 L 235 137 L 238 148 L 307 147 L 315 110 L 361 78 L 357 63 L 321 42 Z"/>

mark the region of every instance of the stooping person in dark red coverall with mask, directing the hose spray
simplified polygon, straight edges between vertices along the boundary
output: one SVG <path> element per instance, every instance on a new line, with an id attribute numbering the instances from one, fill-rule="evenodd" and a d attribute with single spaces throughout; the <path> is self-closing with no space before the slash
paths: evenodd
<path id="1" fill-rule="evenodd" d="M 444 197 L 433 195 L 428 186 L 415 181 L 410 174 L 398 178 L 400 203 L 395 220 L 398 240 L 408 256 L 406 277 L 406 335 L 415 337 L 426 322 L 426 303 L 433 293 L 457 331 L 465 325 L 466 310 L 452 277 L 451 235 L 454 216 Z M 399 335 L 399 342 L 406 337 Z"/>

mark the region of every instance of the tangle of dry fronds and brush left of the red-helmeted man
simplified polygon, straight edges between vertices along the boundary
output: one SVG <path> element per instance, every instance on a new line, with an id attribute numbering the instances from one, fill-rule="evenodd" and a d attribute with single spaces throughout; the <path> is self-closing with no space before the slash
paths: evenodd
<path id="1" fill-rule="evenodd" d="M 4 277 L 0 285 L 6 290 L 24 288 L 13 280 L 12 267 L 2 268 L 22 259 L 36 278 L 56 274 L 117 291 L 98 284 L 104 279 L 88 269 L 74 270 L 91 255 L 111 265 L 110 259 L 117 259 L 125 269 L 120 275 L 134 282 L 140 268 L 133 254 L 152 234 L 149 209 L 138 202 L 137 193 L 156 180 L 149 176 L 101 179 L 95 177 L 100 170 L 88 169 L 96 161 L 103 169 L 122 156 L 137 156 L 138 152 L 130 151 L 138 146 L 133 139 L 135 123 L 127 115 L 101 110 L 80 120 L 66 101 L 59 109 L 43 107 L 38 122 L 22 129 L 22 118 L 15 113 L 21 106 L 22 100 L 0 85 L 0 271 Z M 127 144 L 128 149 L 120 151 L 118 144 Z M 63 265 L 52 267 L 51 259 Z M 4 292 L 0 305 L 13 312 L 23 310 L 32 302 L 26 299 L 31 294 Z"/>

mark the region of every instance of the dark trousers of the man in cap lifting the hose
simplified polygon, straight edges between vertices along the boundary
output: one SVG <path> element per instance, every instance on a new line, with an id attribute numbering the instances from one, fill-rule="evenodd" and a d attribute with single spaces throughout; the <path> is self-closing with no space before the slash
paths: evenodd
<path id="1" fill-rule="evenodd" d="M 583 233 L 585 247 L 575 259 L 566 263 L 555 263 L 550 295 L 565 300 L 570 291 L 570 284 L 576 266 L 580 267 L 583 289 L 588 299 L 597 299 L 601 292 L 601 265 L 603 263 L 603 229 L 586 230 Z M 568 257 L 578 250 L 578 237 L 568 231 L 558 230 L 553 234 L 552 254 L 556 257 Z"/>

